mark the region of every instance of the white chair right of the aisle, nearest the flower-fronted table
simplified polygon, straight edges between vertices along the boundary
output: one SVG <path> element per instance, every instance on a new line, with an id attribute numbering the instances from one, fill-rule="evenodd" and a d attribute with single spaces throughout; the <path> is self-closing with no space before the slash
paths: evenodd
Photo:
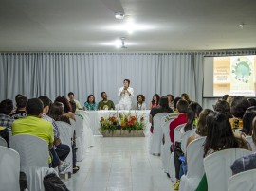
<path id="1" fill-rule="evenodd" d="M 154 130 L 151 134 L 152 138 L 150 141 L 150 154 L 161 154 L 161 141 L 163 137 L 163 131 L 161 128 L 161 119 L 163 116 L 169 113 L 157 113 L 153 117 Z"/>

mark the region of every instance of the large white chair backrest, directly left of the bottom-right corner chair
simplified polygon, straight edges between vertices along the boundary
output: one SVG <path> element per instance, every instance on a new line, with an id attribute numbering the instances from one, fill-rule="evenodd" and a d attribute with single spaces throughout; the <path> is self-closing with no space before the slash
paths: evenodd
<path id="1" fill-rule="evenodd" d="M 232 175 L 230 166 L 233 162 L 252 152 L 241 148 L 224 149 L 214 152 L 204 159 L 208 190 L 227 190 L 228 181 Z"/>

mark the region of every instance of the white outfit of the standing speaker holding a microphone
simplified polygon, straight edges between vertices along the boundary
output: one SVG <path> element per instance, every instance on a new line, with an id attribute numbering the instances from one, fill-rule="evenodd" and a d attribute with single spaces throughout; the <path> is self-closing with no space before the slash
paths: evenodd
<path id="1" fill-rule="evenodd" d="M 119 110 L 131 110 L 132 109 L 132 97 L 134 96 L 134 89 L 128 87 L 127 90 L 131 94 L 128 93 L 121 94 L 123 87 L 119 89 Z"/>

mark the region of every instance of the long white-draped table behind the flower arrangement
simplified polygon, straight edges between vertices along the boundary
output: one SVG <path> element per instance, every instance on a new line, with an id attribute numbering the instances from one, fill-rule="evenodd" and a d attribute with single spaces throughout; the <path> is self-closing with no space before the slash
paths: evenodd
<path id="1" fill-rule="evenodd" d="M 107 118 L 109 116 L 119 116 L 119 113 L 121 114 L 132 114 L 137 115 L 137 118 L 143 116 L 145 121 L 145 134 L 147 134 L 148 129 L 150 127 L 149 123 L 149 113 L 150 110 L 99 110 L 99 111 L 83 111 L 83 110 L 77 110 L 77 114 L 81 114 L 82 117 L 85 119 L 85 125 L 89 126 L 89 128 L 93 131 L 94 135 L 101 135 L 101 132 L 99 130 L 100 128 L 100 121 L 101 117 Z"/>

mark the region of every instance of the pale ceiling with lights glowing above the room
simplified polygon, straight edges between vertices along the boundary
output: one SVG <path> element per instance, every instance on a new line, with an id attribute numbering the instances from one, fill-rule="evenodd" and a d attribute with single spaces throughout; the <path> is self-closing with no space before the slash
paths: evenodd
<path id="1" fill-rule="evenodd" d="M 0 5 L 0 51 L 256 47 L 255 0 L 0 0 Z M 114 14 L 122 9 L 128 16 L 117 20 Z M 126 49 L 115 46 L 120 37 Z"/>

